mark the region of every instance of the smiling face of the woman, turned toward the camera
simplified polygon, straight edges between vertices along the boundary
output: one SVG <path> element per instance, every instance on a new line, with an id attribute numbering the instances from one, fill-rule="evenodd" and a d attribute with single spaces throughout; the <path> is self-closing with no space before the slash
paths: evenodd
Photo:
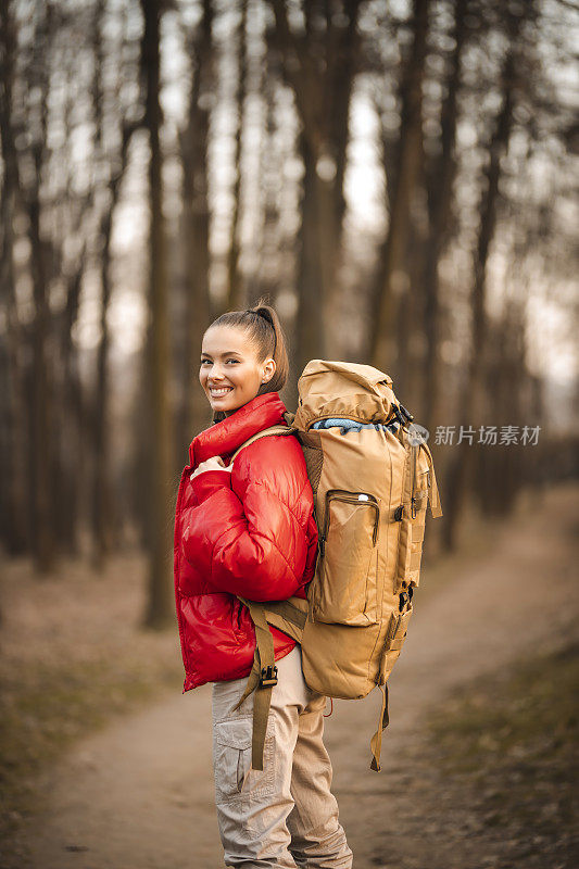
<path id="1" fill-rule="evenodd" d="M 260 362 L 243 328 L 210 326 L 203 336 L 199 381 L 213 411 L 230 414 L 247 404 L 275 368 L 273 358 Z"/>

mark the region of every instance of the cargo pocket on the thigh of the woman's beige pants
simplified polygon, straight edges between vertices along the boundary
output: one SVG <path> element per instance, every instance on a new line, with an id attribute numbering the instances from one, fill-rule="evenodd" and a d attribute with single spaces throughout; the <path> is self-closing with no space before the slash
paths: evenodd
<path id="1" fill-rule="evenodd" d="M 217 803 L 273 794 L 275 784 L 275 727 L 267 722 L 263 770 L 251 767 L 253 718 L 231 718 L 214 726 L 213 771 Z"/>

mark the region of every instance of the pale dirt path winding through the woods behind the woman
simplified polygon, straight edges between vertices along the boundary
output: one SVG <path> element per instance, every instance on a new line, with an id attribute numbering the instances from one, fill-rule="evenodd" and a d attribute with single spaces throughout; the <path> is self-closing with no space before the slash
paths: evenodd
<path id="1" fill-rule="evenodd" d="M 390 680 L 381 773 L 368 770 L 377 697 L 335 704 L 327 745 L 356 869 L 496 865 L 492 854 L 473 857 L 476 835 L 453 826 L 453 806 L 432 793 L 435 778 L 429 789 L 430 770 L 416 755 L 420 722 L 449 690 L 572 634 L 578 514 L 576 488 L 559 487 L 511 520 L 508 534 L 499 530 L 477 564 L 417 595 Z M 33 869 L 223 866 L 207 687 L 164 697 L 85 740 L 45 774 L 41 790 L 50 809 L 24 833 Z"/>

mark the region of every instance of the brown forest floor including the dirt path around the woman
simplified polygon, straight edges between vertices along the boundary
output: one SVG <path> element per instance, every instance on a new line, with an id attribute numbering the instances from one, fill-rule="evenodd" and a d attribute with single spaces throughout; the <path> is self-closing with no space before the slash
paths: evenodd
<path id="1" fill-rule="evenodd" d="M 355 869 L 579 865 L 578 494 L 526 495 L 424 569 L 380 773 L 378 698 L 335 703 L 326 744 Z M 176 631 L 136 630 L 142 562 L 103 579 L 3 575 L 2 869 L 223 866 L 211 692 L 181 695 Z"/>

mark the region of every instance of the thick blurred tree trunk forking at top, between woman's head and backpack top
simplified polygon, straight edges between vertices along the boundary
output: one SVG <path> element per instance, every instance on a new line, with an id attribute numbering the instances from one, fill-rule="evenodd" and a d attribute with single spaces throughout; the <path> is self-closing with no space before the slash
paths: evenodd
<path id="1" fill-rule="evenodd" d="M 347 26 L 342 21 L 337 23 L 338 16 L 331 14 L 327 3 L 304 3 L 305 34 L 290 27 L 285 0 L 272 0 L 272 5 L 276 25 L 272 45 L 281 55 L 284 77 L 294 93 L 302 127 L 304 179 L 297 319 L 297 366 L 301 369 L 312 356 L 324 353 L 327 319 L 336 295 L 350 98 L 360 62 L 361 3 L 343 3 L 341 18 L 345 15 Z M 314 320 L 307 312 L 316 312 Z"/>

